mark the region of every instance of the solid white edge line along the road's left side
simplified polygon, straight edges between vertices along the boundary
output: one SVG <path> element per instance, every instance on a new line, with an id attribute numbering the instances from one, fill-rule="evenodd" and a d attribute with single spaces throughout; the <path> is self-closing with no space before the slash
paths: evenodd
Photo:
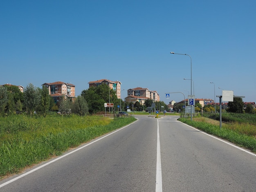
<path id="1" fill-rule="evenodd" d="M 13 181 L 16 181 L 16 180 L 22 178 L 22 177 L 24 177 L 24 176 L 26 176 L 26 175 L 28 175 L 28 174 L 30 174 L 30 173 L 33 173 L 33 172 L 35 172 L 36 170 L 39 170 L 39 169 L 41 169 L 41 168 L 43 168 L 43 167 L 45 167 L 45 166 L 47 166 L 47 165 L 49 165 L 49 164 L 51 164 L 51 163 L 53 163 L 53 162 L 55 162 L 55 161 L 58 161 L 58 160 L 62 159 L 62 158 L 65 157 L 65 156 L 68 156 L 68 155 L 70 155 L 70 154 L 72 154 L 72 153 L 74 153 L 74 152 L 77 152 L 77 151 L 83 149 L 84 147 L 87 147 L 88 145 L 91 145 L 92 143 L 95 143 L 95 142 L 97 142 L 97 141 L 99 141 L 99 140 L 101 140 L 101 139 L 103 139 L 103 138 L 105 138 L 105 137 L 107 137 L 107 136 L 110 136 L 110 135 L 114 134 L 115 132 L 118 132 L 118 131 L 120 131 L 120 130 L 122 130 L 122 129 L 124 129 L 124 128 L 130 126 L 130 125 L 132 125 L 132 124 L 135 123 L 135 122 L 136 122 L 136 121 L 130 123 L 129 125 L 126 125 L 126 126 L 120 128 L 120 129 L 117 129 L 116 131 L 111 132 L 110 134 L 107 134 L 107 135 L 105 135 L 105 136 L 103 136 L 103 137 L 101 137 L 101 138 L 98 138 L 97 140 L 92 141 L 91 143 L 88 143 L 88 144 L 86 144 L 86 145 L 83 145 L 82 147 L 79 147 L 79 148 L 77 148 L 76 150 L 74 150 L 74 151 L 72 151 L 72 152 L 69 152 L 69 153 L 67 153 L 67 154 L 65 154 L 65 155 L 63 155 L 63 156 L 60 156 L 60 157 L 58 157 L 58 158 L 52 160 L 52 161 L 49 161 L 48 163 L 45 163 L 44 165 L 41 165 L 41 166 L 39 166 L 39 167 L 36 167 L 35 169 L 30 170 L 29 172 L 26 172 L 26 173 L 24 173 L 24 174 L 22 174 L 22 175 L 20 175 L 20 176 L 17 176 L 17 177 L 15 177 L 15 178 L 11 179 L 10 181 L 7 181 L 7 182 L 5 182 L 5 183 L 2 183 L 2 184 L 0 185 L 0 188 L 2 188 L 2 187 L 5 186 L 5 185 L 8 185 L 8 184 L 12 183 Z"/>

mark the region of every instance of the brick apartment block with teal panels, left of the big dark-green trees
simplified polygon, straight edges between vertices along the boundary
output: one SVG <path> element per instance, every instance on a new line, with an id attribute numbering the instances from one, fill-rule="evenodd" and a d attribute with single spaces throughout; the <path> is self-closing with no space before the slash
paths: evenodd
<path id="1" fill-rule="evenodd" d="M 75 85 L 71 83 L 64 83 L 62 81 L 56 81 L 54 83 L 44 83 L 49 90 L 49 95 L 54 98 L 55 103 L 58 101 L 59 97 L 65 96 L 74 100 L 75 96 Z"/>

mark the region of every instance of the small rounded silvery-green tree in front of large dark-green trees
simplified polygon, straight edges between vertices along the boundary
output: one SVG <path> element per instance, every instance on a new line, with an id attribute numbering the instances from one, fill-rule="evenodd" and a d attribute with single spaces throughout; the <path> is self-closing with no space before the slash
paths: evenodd
<path id="1" fill-rule="evenodd" d="M 84 116 L 88 114 L 89 108 L 86 100 L 83 96 L 77 96 L 76 100 L 72 104 L 72 113 Z"/>

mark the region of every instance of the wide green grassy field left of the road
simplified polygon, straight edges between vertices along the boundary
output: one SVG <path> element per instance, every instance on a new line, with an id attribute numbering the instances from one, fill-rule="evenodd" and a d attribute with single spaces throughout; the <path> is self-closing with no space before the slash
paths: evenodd
<path id="1" fill-rule="evenodd" d="M 135 118 L 49 116 L 0 118 L 0 176 L 14 174 L 70 147 L 135 121 Z"/>

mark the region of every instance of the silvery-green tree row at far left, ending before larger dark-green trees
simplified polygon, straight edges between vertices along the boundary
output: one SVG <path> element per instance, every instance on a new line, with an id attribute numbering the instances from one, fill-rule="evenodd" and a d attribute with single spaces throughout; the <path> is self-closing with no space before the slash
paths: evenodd
<path id="1" fill-rule="evenodd" d="M 79 115 L 88 114 L 88 106 L 85 99 L 78 96 L 74 102 L 65 96 L 61 96 L 57 103 L 49 95 L 46 87 L 36 87 L 31 83 L 22 93 L 17 86 L 0 86 L 0 115 L 28 112 L 46 116 L 50 111 L 73 112 Z"/>

